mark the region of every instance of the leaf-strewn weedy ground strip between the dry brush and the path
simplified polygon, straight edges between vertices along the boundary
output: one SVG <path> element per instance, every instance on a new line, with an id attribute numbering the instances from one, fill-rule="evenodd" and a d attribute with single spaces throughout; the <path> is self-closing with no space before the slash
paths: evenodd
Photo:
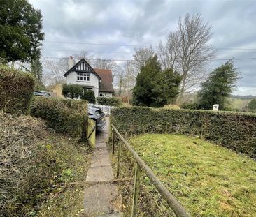
<path id="1" fill-rule="evenodd" d="M 43 142 L 52 151 L 57 151 L 56 160 L 59 163 L 59 181 L 48 193 L 45 202 L 36 211 L 36 216 L 80 216 L 83 213 L 83 197 L 85 177 L 90 166 L 91 151 L 83 143 L 77 143 L 63 135 L 52 135 Z"/>

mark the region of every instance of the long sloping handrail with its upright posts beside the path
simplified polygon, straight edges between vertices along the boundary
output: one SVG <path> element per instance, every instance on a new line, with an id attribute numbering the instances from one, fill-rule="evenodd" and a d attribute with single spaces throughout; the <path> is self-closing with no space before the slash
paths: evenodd
<path id="1" fill-rule="evenodd" d="M 122 141 L 123 144 L 125 144 L 125 147 L 129 150 L 129 152 L 134 157 L 134 160 L 136 161 L 136 168 L 135 168 L 135 178 L 134 178 L 134 196 L 133 196 L 133 203 L 132 203 L 132 211 L 131 216 L 136 216 L 137 213 L 137 202 L 138 202 L 138 193 L 139 193 L 139 186 L 140 186 L 140 177 L 141 177 L 141 171 L 145 172 L 146 176 L 150 179 L 152 184 L 157 188 L 158 192 L 162 197 L 164 197 L 164 200 L 166 200 L 169 207 L 172 209 L 172 211 L 176 214 L 176 216 L 182 216 L 182 217 L 188 217 L 190 214 L 185 211 L 183 206 L 176 200 L 176 198 L 169 192 L 167 188 L 164 187 L 161 181 L 157 179 L 155 174 L 152 172 L 150 167 L 145 164 L 145 162 L 138 156 L 136 151 L 129 145 L 129 143 L 125 140 L 122 135 L 118 132 L 118 130 L 111 124 L 111 138 L 112 138 L 112 152 L 115 154 L 115 135 L 118 136 L 118 138 Z M 120 174 L 120 143 L 118 147 L 118 168 L 117 168 L 117 178 Z"/>

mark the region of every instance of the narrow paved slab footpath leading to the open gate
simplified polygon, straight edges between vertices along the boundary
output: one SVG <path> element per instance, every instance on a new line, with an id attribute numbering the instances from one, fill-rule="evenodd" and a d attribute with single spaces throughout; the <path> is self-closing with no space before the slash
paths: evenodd
<path id="1" fill-rule="evenodd" d="M 114 179 L 106 142 L 108 140 L 108 118 L 104 130 L 96 138 L 91 166 L 86 182 L 91 186 L 85 189 L 84 216 L 122 216 L 122 197 L 111 181 Z"/>

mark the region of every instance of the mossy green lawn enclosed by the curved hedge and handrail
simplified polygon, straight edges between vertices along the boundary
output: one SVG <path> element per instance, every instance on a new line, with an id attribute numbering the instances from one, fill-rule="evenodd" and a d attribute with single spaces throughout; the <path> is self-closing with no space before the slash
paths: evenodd
<path id="1" fill-rule="evenodd" d="M 139 135 L 129 143 L 192 216 L 256 216 L 254 160 L 186 135 Z"/>

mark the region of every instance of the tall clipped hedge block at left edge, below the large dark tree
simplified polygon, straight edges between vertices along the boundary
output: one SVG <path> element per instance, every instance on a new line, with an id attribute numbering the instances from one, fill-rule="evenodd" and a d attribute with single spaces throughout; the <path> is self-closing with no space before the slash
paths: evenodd
<path id="1" fill-rule="evenodd" d="M 0 66 L 0 110 L 29 114 L 35 80 L 30 73 Z"/>

